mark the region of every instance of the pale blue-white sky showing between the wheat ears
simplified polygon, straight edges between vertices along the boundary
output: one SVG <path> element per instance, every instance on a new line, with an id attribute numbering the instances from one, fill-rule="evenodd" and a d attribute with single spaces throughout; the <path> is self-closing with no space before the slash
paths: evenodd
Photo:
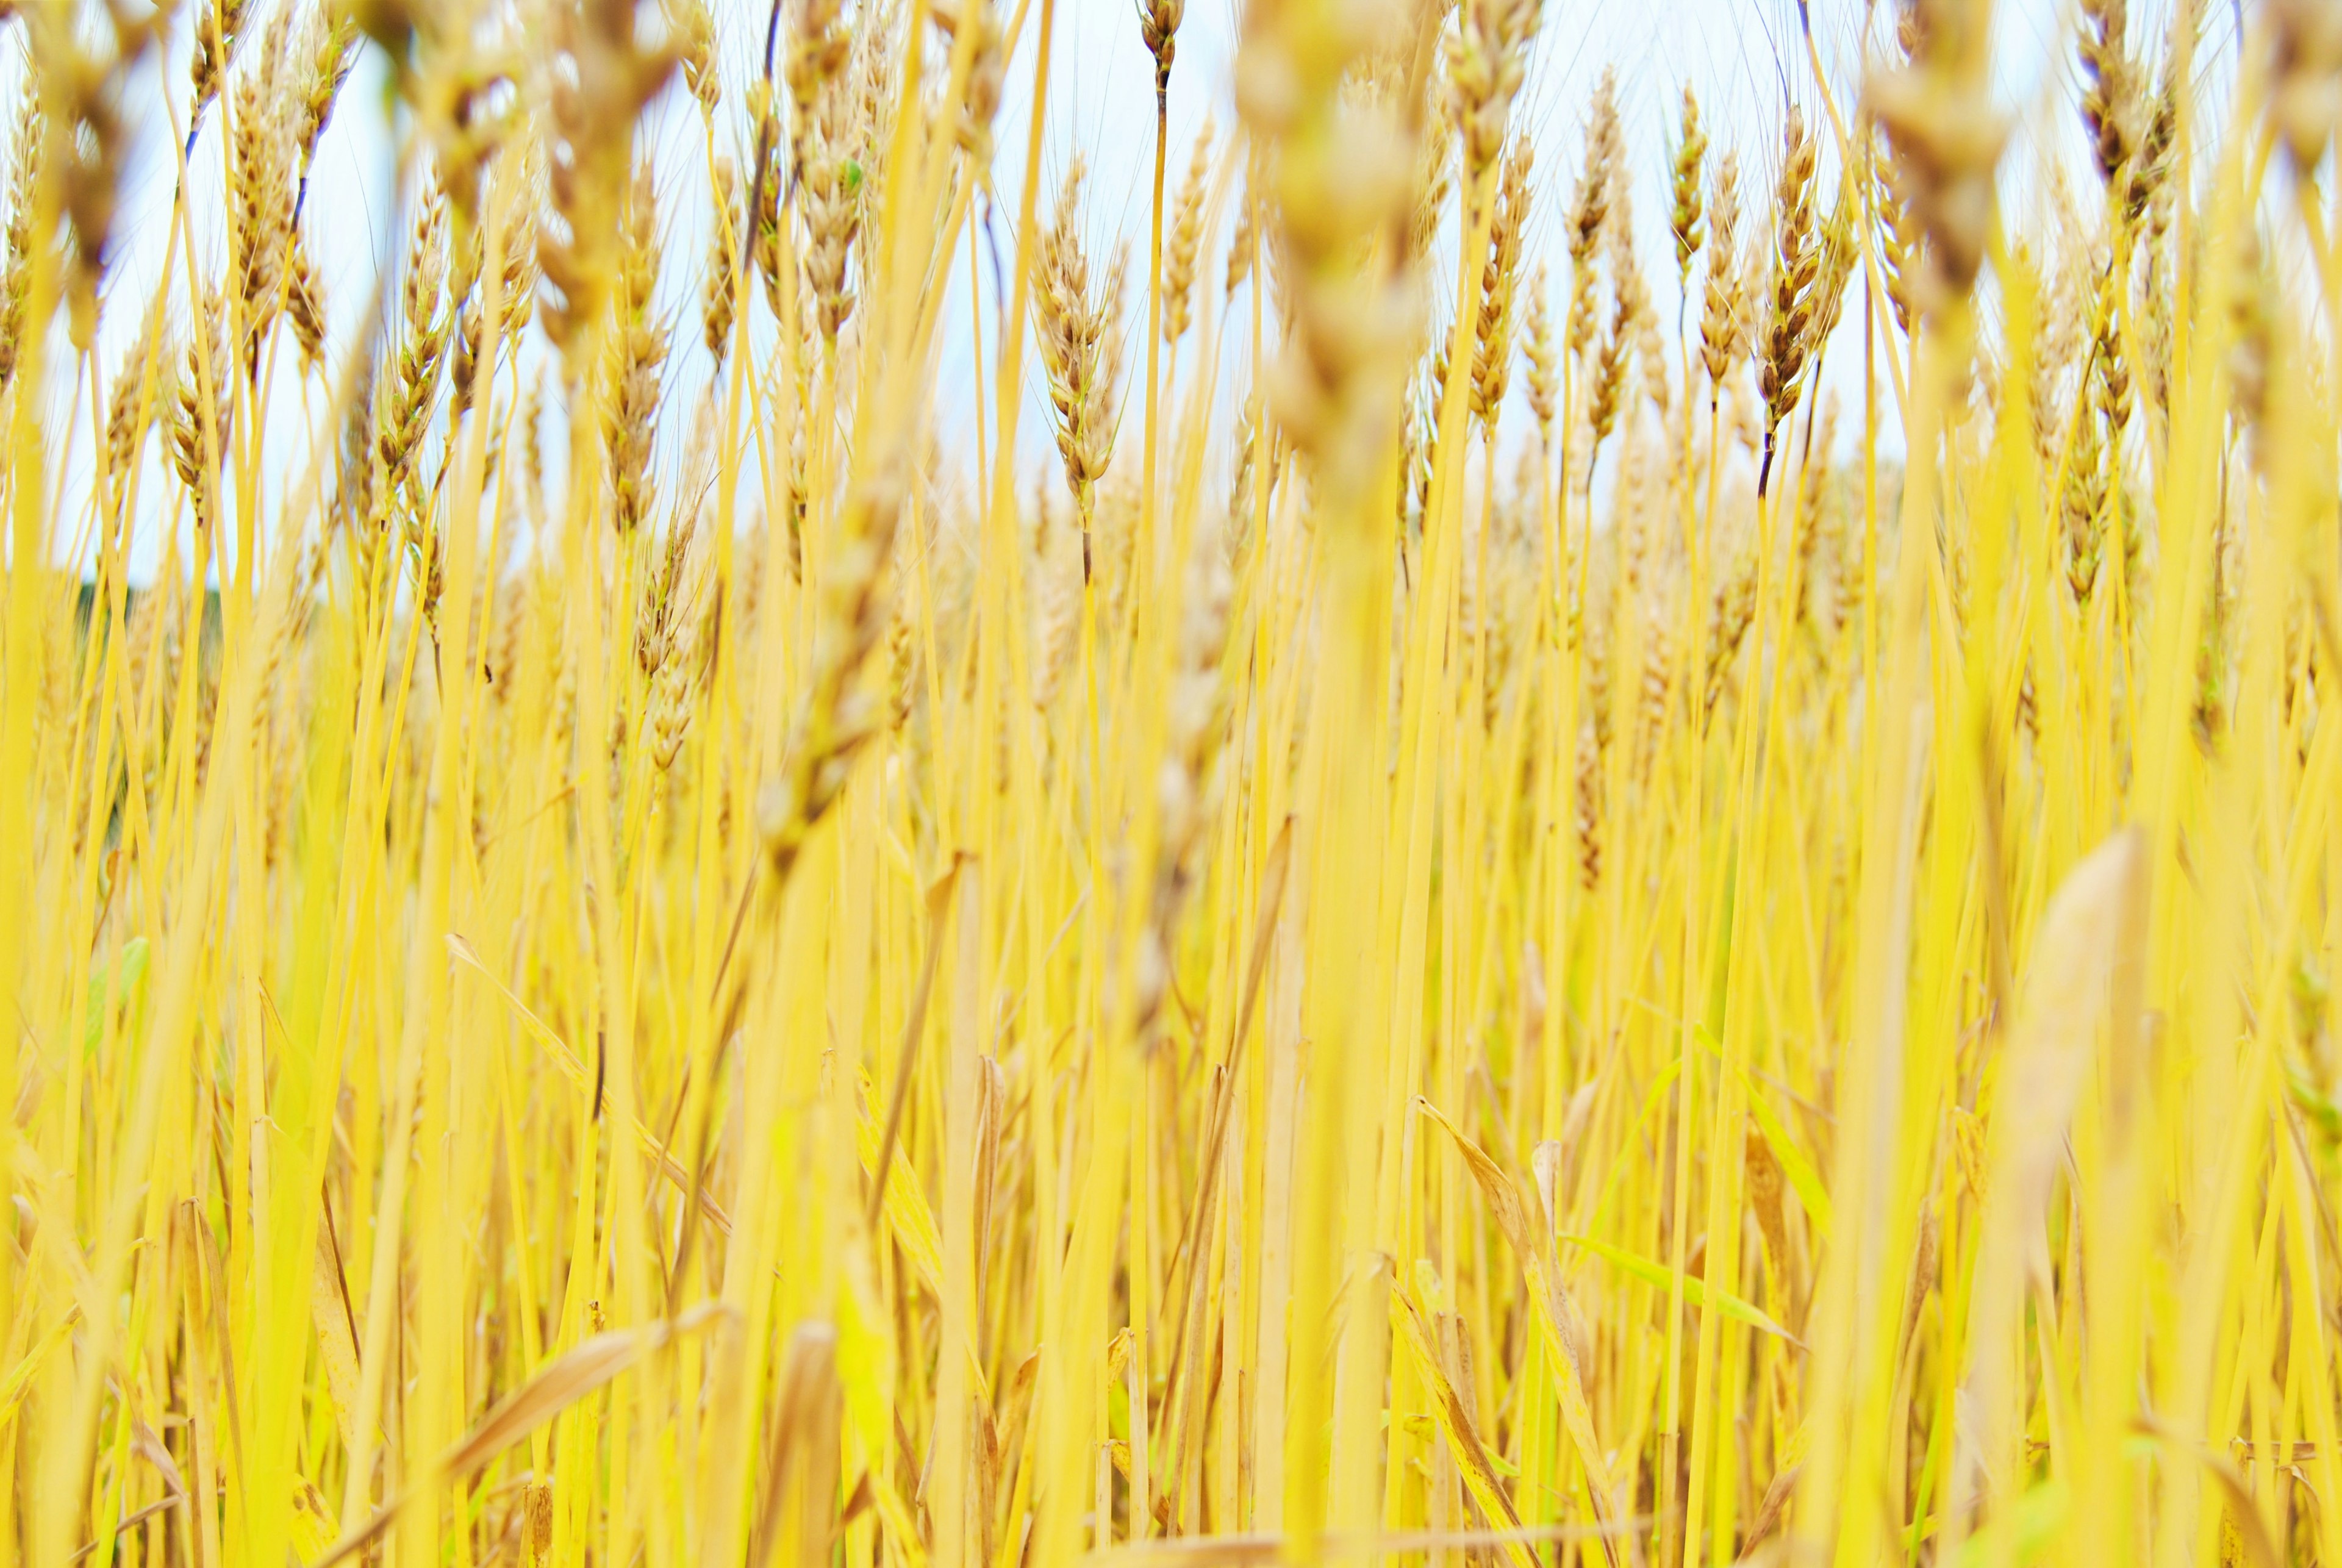
<path id="1" fill-rule="evenodd" d="M 2241 2 L 2241 0 L 2239 0 Z M 251 0 L 255 21 L 246 28 L 241 49 L 269 47 L 269 40 L 286 30 L 286 7 L 290 0 Z M 742 0 L 710 0 L 717 16 L 719 68 L 728 82 L 724 108 L 719 110 L 719 138 L 740 133 L 738 84 L 756 66 L 761 54 L 766 5 Z M 1206 119 L 1225 138 L 1234 117 L 1232 73 L 1239 35 L 1241 0 L 1190 0 L 1185 23 L 1178 33 L 1178 63 L 1171 82 L 1171 185 L 1176 190 L 1180 171 L 1197 131 Z M 2145 0 L 2134 5 L 2134 28 L 2145 33 L 2169 14 L 2169 0 Z M 110 374 L 136 337 L 138 316 L 155 281 L 162 276 L 166 257 L 166 234 L 171 199 L 178 180 L 176 133 L 183 126 L 187 98 L 187 9 L 183 5 L 178 35 L 162 61 L 150 61 L 133 84 L 129 112 L 136 126 L 133 159 L 122 201 L 115 260 L 110 267 L 110 295 L 101 358 Z M 1002 7 L 1005 12 L 1009 7 Z M 1040 0 L 1033 0 L 1038 19 Z M 1049 82 L 1045 126 L 1045 194 L 1054 194 L 1066 161 L 1080 152 L 1089 169 L 1087 227 L 1098 246 L 1115 236 L 1131 239 L 1143 248 L 1148 232 L 1148 194 L 1152 176 L 1152 61 L 1138 37 L 1138 16 L 1131 0 L 1056 0 L 1056 49 Z M 1869 19 L 1862 0 L 1813 0 L 1813 33 L 1822 66 L 1831 77 L 1841 105 L 1850 103 L 1860 82 L 1860 40 L 1864 26 L 1885 26 L 1885 16 Z M 1007 68 L 1007 89 L 995 119 L 993 183 L 1000 211 L 986 218 L 988 232 L 1009 253 L 1014 234 L 1009 225 L 1016 211 L 1016 185 L 1021 178 L 1021 150 L 1030 112 L 1033 35 L 1028 26 Z M 1998 98 L 2016 126 L 2014 147 L 2019 157 L 2005 166 L 2005 201 L 2026 199 L 2028 169 L 2042 159 L 2075 159 L 2080 154 L 2075 101 L 2075 68 L 2070 49 L 2061 40 L 2073 35 L 2070 0 L 1998 0 L 1995 5 L 1995 61 Z M 2234 21 L 2216 9 L 2218 40 L 2234 37 Z M 239 54 L 239 59 L 244 59 Z M 9 61 L 21 82 L 21 63 Z M 1803 56 L 1799 12 L 1794 0 L 1546 0 L 1543 26 L 1532 54 L 1527 87 L 1515 103 L 1515 124 L 1536 145 L 1539 215 L 1532 225 L 1529 255 L 1557 257 L 1557 243 L 1548 239 L 1548 225 L 1567 201 L 1576 178 L 1581 154 L 1581 131 L 1588 96 L 1604 68 L 1618 75 L 1618 101 L 1625 115 L 1630 159 L 1637 173 L 1637 227 L 1646 271 L 1663 316 L 1672 314 L 1672 255 L 1665 236 L 1663 178 L 1675 138 L 1675 117 L 1682 89 L 1689 84 L 1703 105 L 1710 140 L 1717 147 L 1738 147 L 1742 157 L 1742 190 L 1754 183 L 1754 204 L 1761 206 L 1761 190 L 1771 178 L 1778 124 L 1787 101 L 1801 103 L 1808 115 L 1817 115 L 1817 94 Z M 5 84 L 5 94 L 16 91 L 16 82 Z M 206 117 L 197 140 L 192 169 L 194 234 L 197 253 L 206 274 L 218 274 L 225 257 L 220 225 L 222 152 L 218 115 Z M 319 145 L 307 208 L 307 241 L 326 276 L 328 311 L 335 321 L 337 349 L 347 349 L 363 328 L 372 278 L 396 257 L 405 243 L 403 218 L 396 211 L 396 147 L 400 138 L 400 115 L 384 91 L 379 56 L 370 49 L 361 56 L 349 87 Z M 679 349 L 667 367 L 667 400 L 686 405 L 698 396 L 707 377 L 707 356 L 698 349 L 698 260 L 705 253 L 707 234 L 707 187 L 705 154 L 698 108 L 677 82 L 663 94 L 644 117 L 639 147 L 653 159 L 663 204 L 663 250 L 670 257 L 689 257 L 667 264 L 663 274 L 660 309 L 672 311 L 679 330 Z M 1169 199 L 1169 197 L 1166 197 Z M 1047 211 L 1047 201 L 1045 201 Z M 1225 220 L 1220 232 L 1206 241 L 1204 253 L 1225 250 Z M 1215 262 L 1206 262 L 1206 276 Z M 1443 269 L 1431 269 L 1443 278 Z M 1560 274 L 1555 264 L 1555 274 Z M 953 274 L 953 300 L 944 309 L 944 342 L 937 374 L 937 426 L 946 449 L 965 445 L 972 435 L 974 405 L 965 388 L 977 386 L 972 374 L 972 342 L 967 323 L 965 290 L 970 283 L 965 250 Z M 998 309 L 991 281 L 984 288 L 984 311 Z M 1445 288 L 1440 283 L 1438 288 Z M 1560 288 L 1560 286 L 1557 286 Z M 185 321 L 185 283 L 176 283 L 176 321 Z M 1136 311 L 1143 314 L 1143 288 L 1136 295 Z M 759 307 L 761 309 L 761 307 Z M 56 335 L 52 342 L 61 342 Z M 1134 351 L 1143 344 L 1143 330 L 1129 337 Z M 998 344 L 986 342 L 986 358 Z M 286 353 L 290 358 L 290 353 Z M 1838 356 L 1848 365 L 1841 377 L 1853 377 L 1855 356 Z M 1030 360 L 1028 360 L 1030 363 Z M 59 363 L 52 374 L 52 393 L 68 398 L 73 388 L 70 365 Z M 1827 372 L 1824 372 L 1827 374 Z M 297 426 L 304 417 L 323 421 L 323 391 L 314 384 L 307 398 L 293 393 L 272 400 L 274 419 L 269 442 L 279 452 L 304 447 L 300 431 L 293 440 L 279 440 L 276 421 Z M 1047 447 L 1040 386 L 1028 386 L 1021 466 L 1040 466 Z M 70 412 L 68 407 L 59 410 Z M 80 440 L 68 454 L 59 454 L 63 477 L 63 510 L 56 534 L 63 541 L 75 536 L 75 501 L 87 501 L 89 473 L 89 417 L 77 417 Z M 670 449 L 658 454 L 665 466 L 679 466 L 682 440 L 691 419 L 665 419 L 663 440 Z M 323 435 L 323 431 L 319 431 Z M 150 461 L 152 442 L 150 442 Z M 162 491 L 162 487 L 152 487 Z M 152 531 L 152 529 L 150 529 Z M 152 557 L 152 545 L 141 552 Z M 141 569 L 145 559 L 141 562 Z"/>

